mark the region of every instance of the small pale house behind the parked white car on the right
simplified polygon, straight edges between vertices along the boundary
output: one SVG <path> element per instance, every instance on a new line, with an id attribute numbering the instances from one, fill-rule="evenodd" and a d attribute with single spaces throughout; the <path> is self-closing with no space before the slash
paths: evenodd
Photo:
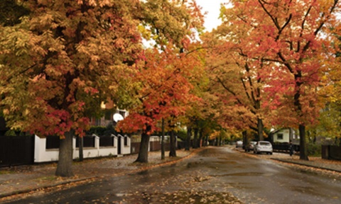
<path id="1" fill-rule="evenodd" d="M 288 143 L 298 145 L 300 143 L 300 136 L 296 134 L 293 128 L 281 128 L 270 132 L 271 142 L 273 143 Z"/>

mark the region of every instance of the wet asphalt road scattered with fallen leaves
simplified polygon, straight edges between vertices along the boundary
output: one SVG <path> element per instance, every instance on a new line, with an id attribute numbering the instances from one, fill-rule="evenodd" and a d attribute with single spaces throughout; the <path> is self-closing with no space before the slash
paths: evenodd
<path id="1" fill-rule="evenodd" d="M 10 203 L 341 203 L 340 192 L 332 176 L 212 147 L 172 166 Z"/>

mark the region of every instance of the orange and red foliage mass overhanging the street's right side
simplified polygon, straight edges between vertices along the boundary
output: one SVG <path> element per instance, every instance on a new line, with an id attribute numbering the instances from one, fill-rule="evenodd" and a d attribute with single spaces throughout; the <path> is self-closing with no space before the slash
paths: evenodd
<path id="1" fill-rule="evenodd" d="M 222 9 L 222 26 L 210 39 L 217 45 L 207 62 L 208 74 L 224 88 L 212 88 L 220 93 L 224 117 L 242 113 L 241 104 L 245 111 L 239 118 L 273 117 L 272 125 L 309 124 L 318 116 L 317 90 L 326 73 L 321 70 L 329 61 L 326 53 L 332 53 L 327 49 L 332 36 L 323 29 L 332 25 L 329 12 L 340 7 L 336 2 L 231 1 L 232 8 Z"/>

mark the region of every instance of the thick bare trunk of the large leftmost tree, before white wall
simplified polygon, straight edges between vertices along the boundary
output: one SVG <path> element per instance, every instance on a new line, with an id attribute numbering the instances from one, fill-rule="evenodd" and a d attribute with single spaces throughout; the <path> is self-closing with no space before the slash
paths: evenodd
<path id="1" fill-rule="evenodd" d="M 73 131 L 65 133 L 65 139 L 60 139 L 59 159 L 55 176 L 73 176 L 72 171 L 72 138 Z"/>

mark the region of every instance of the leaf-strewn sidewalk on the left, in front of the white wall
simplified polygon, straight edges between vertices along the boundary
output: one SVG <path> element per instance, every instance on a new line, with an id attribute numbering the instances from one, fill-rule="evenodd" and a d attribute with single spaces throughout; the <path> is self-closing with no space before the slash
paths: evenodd
<path id="1" fill-rule="evenodd" d="M 137 154 L 126 155 L 124 157 L 85 159 L 83 162 L 74 162 L 72 168 L 75 176 L 67 178 L 55 176 L 56 163 L 0 168 L 0 203 L 1 201 L 8 200 L 11 196 L 21 193 L 45 191 L 48 188 L 60 185 L 72 185 L 101 179 L 106 176 L 131 174 L 156 166 L 173 164 L 191 157 L 200 150 L 177 150 L 176 158 L 168 157 L 169 152 L 166 152 L 166 159 L 164 160 L 161 160 L 161 152 L 149 152 L 148 164 L 134 163 L 138 156 Z"/>

